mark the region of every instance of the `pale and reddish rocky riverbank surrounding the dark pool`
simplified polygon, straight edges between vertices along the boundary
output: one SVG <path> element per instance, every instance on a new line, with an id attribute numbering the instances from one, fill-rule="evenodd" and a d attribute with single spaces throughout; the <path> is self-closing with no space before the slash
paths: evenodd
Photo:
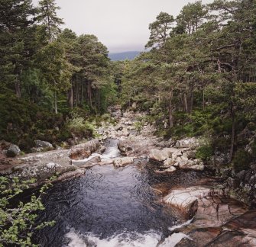
<path id="1" fill-rule="evenodd" d="M 37 183 L 32 185 L 37 186 L 47 182 L 56 173 L 58 177 L 55 182 L 66 181 L 85 175 L 95 165 L 122 168 L 126 165 L 139 167 L 139 164 L 151 162 L 151 172 L 165 178 L 165 182 L 158 181 L 152 187 L 159 197 L 159 203 L 176 212 L 180 223 L 189 220 L 181 227 L 170 226 L 170 236 L 182 236 L 178 246 L 222 246 L 222 242 L 223 246 L 227 242 L 232 243 L 232 246 L 254 246 L 256 224 L 249 218 L 254 219 L 256 212 L 249 211 L 245 204 L 239 204 L 229 197 L 228 189 L 222 186 L 222 178 L 211 178 L 207 172 L 203 172 L 208 168 L 196 159 L 196 148 L 203 140 L 164 140 L 154 136 L 155 128 L 150 123 L 143 123 L 140 130 L 136 129 L 136 119 L 141 114 L 125 112 L 122 116 L 119 110 L 112 114 L 118 123 L 102 123 L 102 127 L 97 130 L 101 135 L 99 140 L 82 143 L 71 149 L 33 153 L 12 159 L 13 163 L 8 169 L 2 169 L 2 174 L 26 179 L 36 177 Z M 115 147 L 102 156 L 108 140 L 117 140 L 115 145 L 120 153 Z M 173 184 L 170 186 L 168 179 L 175 178 L 177 172 L 185 178 L 190 178 L 185 174 L 202 173 L 205 178 L 193 179 L 193 183 L 185 179 L 177 187 Z"/>

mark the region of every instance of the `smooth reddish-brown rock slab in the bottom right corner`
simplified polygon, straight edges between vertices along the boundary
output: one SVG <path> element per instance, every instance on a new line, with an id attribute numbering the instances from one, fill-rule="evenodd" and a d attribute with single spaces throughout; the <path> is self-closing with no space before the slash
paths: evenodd
<path id="1" fill-rule="evenodd" d="M 186 233 L 187 238 L 175 246 L 252 247 L 256 244 L 256 210 L 246 212 L 222 190 L 210 185 L 180 188 L 164 197 L 164 202 L 181 210 L 187 218 L 193 217 L 193 221 L 176 229 L 178 233 Z"/>

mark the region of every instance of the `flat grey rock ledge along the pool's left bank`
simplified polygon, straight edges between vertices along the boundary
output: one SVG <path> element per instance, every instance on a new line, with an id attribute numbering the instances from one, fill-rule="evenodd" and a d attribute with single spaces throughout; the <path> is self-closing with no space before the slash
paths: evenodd
<path id="1" fill-rule="evenodd" d="M 11 178 L 18 177 L 26 180 L 37 178 L 37 183 L 41 184 L 56 173 L 59 173 L 60 177 L 58 177 L 57 180 L 60 181 L 60 178 L 70 178 L 70 175 L 67 175 L 66 173 L 72 172 L 73 175 L 83 174 L 85 172 L 84 168 L 92 166 L 93 164 L 95 165 L 97 162 L 97 160 L 94 159 L 87 162 L 80 161 L 80 163 L 77 162 L 77 164 L 74 165 L 70 158 L 72 157 L 72 154 L 77 154 L 79 152 L 82 154 L 92 153 L 96 151 L 98 147 L 99 140 L 93 140 L 73 146 L 72 149 L 32 153 L 16 159 L 17 165 L 10 166 L 10 168 L 1 171 L 1 174 L 8 175 Z M 76 171 L 79 169 L 81 171 Z"/>

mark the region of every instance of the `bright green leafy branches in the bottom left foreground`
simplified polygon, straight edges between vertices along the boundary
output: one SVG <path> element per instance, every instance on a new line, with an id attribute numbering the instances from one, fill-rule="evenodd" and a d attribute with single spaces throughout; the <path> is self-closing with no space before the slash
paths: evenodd
<path id="1" fill-rule="evenodd" d="M 0 177 L 0 246 L 37 246 L 31 241 L 35 229 L 42 229 L 46 226 L 53 226 L 54 221 L 44 222 L 37 225 L 38 210 L 44 210 L 41 196 L 45 194 L 51 184 L 44 184 L 40 189 L 40 194 L 31 196 L 28 202 L 19 201 L 13 203 L 13 199 L 18 197 L 24 189 L 29 188 L 30 181 L 19 181 L 18 178 L 11 180 Z"/>

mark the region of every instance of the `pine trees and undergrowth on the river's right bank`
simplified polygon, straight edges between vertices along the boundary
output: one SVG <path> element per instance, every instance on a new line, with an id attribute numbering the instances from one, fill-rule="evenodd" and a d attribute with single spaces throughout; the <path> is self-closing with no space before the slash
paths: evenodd
<path id="1" fill-rule="evenodd" d="M 164 136 L 206 136 L 242 170 L 256 158 L 256 2 L 195 2 L 149 25 L 149 52 L 121 63 L 122 104 L 138 103 Z M 164 129 L 163 121 L 168 127 Z M 246 148 L 245 148 L 246 147 Z"/>

